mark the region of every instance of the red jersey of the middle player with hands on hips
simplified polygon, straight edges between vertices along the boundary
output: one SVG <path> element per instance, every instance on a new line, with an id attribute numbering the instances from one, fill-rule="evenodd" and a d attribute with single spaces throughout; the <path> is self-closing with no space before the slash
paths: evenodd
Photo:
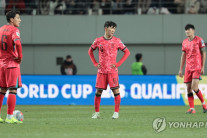
<path id="1" fill-rule="evenodd" d="M 116 63 L 117 51 L 126 49 L 126 46 L 121 42 L 119 38 L 112 37 L 111 39 L 105 39 L 103 36 L 96 38 L 91 48 L 99 50 L 99 63 L 101 68 L 98 69 L 98 73 L 114 73 L 118 72 L 117 68 L 112 68 L 111 65 Z"/>

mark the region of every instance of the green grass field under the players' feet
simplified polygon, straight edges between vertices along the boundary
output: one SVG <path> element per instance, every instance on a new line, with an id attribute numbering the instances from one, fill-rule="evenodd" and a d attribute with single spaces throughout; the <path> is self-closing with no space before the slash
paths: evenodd
<path id="1" fill-rule="evenodd" d="M 207 113 L 196 106 L 196 114 L 185 114 L 187 106 L 121 106 L 120 118 L 111 119 L 113 106 L 101 106 L 101 119 L 91 119 L 93 106 L 20 106 L 23 124 L 0 124 L 0 138 L 134 138 L 134 137 L 203 137 L 207 128 L 167 128 L 156 133 L 152 122 L 207 122 Z M 2 107 L 5 119 L 6 106 Z"/>

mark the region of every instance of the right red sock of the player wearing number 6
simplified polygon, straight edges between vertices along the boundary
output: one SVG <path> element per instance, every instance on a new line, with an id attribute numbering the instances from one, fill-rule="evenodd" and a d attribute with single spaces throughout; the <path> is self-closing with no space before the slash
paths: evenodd
<path id="1" fill-rule="evenodd" d="M 15 105 L 16 105 L 16 94 L 9 93 L 9 96 L 7 98 L 7 114 L 13 115 Z"/>

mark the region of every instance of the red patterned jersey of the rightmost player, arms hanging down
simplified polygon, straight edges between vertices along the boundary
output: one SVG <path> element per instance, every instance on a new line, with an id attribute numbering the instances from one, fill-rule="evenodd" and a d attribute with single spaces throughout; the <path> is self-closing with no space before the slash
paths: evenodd
<path id="1" fill-rule="evenodd" d="M 186 69 L 191 71 L 201 70 L 201 48 L 204 47 L 205 43 L 201 37 L 195 36 L 191 41 L 188 38 L 183 40 L 182 51 L 186 53 Z"/>

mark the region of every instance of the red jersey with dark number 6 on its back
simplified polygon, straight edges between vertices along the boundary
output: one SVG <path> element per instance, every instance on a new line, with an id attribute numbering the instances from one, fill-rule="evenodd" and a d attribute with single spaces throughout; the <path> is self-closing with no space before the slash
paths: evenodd
<path id="1" fill-rule="evenodd" d="M 20 40 L 20 31 L 12 25 L 4 25 L 0 28 L 0 61 L 2 66 L 19 67 L 14 61 L 18 52 L 15 47 L 15 41 Z"/>

